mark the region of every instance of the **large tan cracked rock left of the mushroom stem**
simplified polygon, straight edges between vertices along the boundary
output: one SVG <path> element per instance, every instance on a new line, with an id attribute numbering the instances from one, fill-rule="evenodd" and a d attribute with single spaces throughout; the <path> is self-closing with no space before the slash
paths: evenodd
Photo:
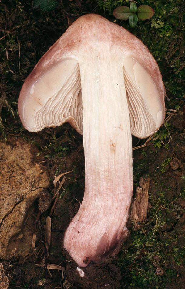
<path id="1" fill-rule="evenodd" d="M 48 172 L 34 160 L 34 146 L 22 138 L 7 143 L 0 141 L 0 258 L 6 260 L 29 253 L 33 234 L 25 220 L 49 186 Z"/>

